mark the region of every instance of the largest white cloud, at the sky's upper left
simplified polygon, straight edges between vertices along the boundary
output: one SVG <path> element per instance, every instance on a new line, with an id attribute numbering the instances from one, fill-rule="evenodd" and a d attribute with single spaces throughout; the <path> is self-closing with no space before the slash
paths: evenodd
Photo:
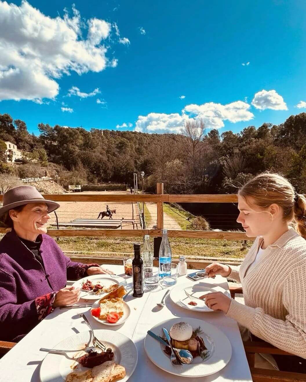
<path id="1" fill-rule="evenodd" d="M 59 94 L 56 79 L 63 74 L 107 67 L 103 40 L 111 25 L 97 18 L 81 19 L 74 6 L 72 11 L 72 16 L 65 9 L 62 18 L 52 18 L 25 0 L 20 6 L 0 1 L 0 100 L 54 99 Z"/>

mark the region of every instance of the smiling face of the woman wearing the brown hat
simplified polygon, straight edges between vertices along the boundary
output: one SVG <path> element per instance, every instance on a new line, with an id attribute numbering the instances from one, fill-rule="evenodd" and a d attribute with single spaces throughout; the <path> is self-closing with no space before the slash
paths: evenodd
<path id="1" fill-rule="evenodd" d="M 10 210 L 10 217 L 17 235 L 24 239 L 35 241 L 38 235 L 47 233 L 50 215 L 46 203 L 29 203 L 21 211 Z"/>

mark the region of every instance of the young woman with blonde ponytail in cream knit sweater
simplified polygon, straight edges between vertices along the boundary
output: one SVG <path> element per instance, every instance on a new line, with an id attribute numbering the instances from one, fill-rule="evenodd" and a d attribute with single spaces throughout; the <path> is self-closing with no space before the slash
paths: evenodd
<path id="1" fill-rule="evenodd" d="M 250 335 L 296 354 L 276 356 L 280 370 L 306 372 L 306 199 L 283 176 L 262 173 L 239 190 L 238 209 L 237 222 L 254 244 L 240 267 L 213 263 L 206 272 L 241 282 L 245 305 L 221 292 L 205 303 Z"/>

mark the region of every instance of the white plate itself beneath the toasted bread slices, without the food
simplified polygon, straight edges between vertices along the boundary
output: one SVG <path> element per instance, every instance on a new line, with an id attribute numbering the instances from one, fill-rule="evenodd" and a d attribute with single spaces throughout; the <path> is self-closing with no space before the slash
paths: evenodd
<path id="1" fill-rule="evenodd" d="M 127 381 L 133 374 L 137 365 L 138 353 L 135 344 L 130 338 L 124 334 L 114 330 L 94 330 L 94 335 L 107 348 L 111 348 L 114 352 L 113 360 L 124 366 L 126 376 L 120 379 L 120 382 Z M 54 346 L 54 349 L 82 349 L 90 342 L 91 335 L 89 331 L 81 332 L 66 338 L 62 342 Z M 91 342 L 90 342 L 91 344 Z M 85 371 L 87 367 L 83 367 L 75 361 L 76 358 L 84 355 L 85 352 L 77 353 L 51 354 L 48 353 L 42 361 L 39 377 L 41 382 L 64 382 L 69 373 L 73 371 L 73 367 L 78 365 L 74 371 Z"/>

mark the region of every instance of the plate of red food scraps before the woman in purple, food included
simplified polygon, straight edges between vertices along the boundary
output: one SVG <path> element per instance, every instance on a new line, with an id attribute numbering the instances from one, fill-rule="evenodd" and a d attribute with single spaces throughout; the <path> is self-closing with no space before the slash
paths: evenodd
<path id="1" fill-rule="evenodd" d="M 98 300 L 120 285 L 126 285 L 124 278 L 110 274 L 87 276 L 73 283 L 75 288 L 81 290 L 80 298 L 85 300 Z"/>

